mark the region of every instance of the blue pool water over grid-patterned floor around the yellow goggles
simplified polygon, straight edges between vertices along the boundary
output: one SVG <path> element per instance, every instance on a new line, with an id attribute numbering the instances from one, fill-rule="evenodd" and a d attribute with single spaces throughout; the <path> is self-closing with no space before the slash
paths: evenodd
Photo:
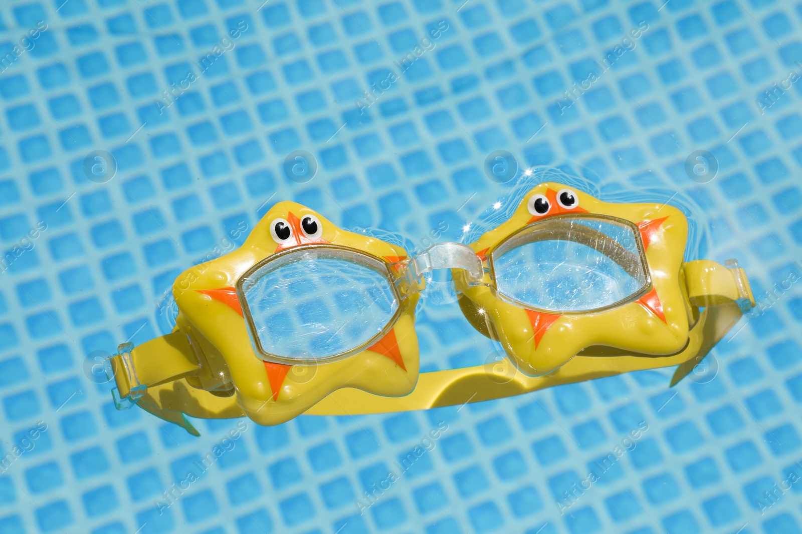
<path id="1" fill-rule="evenodd" d="M 800 29 L 770 0 L 2 2 L 0 534 L 802 532 Z M 200 438 L 96 383 L 273 202 L 457 240 L 514 183 L 498 150 L 692 199 L 759 300 L 710 372 Z M 496 351 L 456 303 L 417 320 L 424 371 Z"/>

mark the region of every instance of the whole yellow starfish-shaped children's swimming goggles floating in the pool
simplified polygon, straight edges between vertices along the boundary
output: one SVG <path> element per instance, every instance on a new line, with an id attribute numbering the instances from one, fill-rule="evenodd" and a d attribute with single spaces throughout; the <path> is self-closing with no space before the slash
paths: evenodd
<path id="1" fill-rule="evenodd" d="M 683 262 L 687 219 L 559 183 L 525 196 L 475 243 L 419 255 L 343 231 L 297 203 L 173 284 L 172 334 L 108 362 L 118 408 L 196 430 L 184 414 L 279 424 L 518 395 L 679 364 L 682 379 L 754 306 L 743 269 Z M 468 322 L 508 359 L 419 374 L 415 305 L 450 269 Z"/>

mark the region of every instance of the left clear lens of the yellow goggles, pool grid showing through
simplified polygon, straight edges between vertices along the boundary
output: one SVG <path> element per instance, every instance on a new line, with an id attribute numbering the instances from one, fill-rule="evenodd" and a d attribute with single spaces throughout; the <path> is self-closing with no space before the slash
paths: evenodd
<path id="1" fill-rule="evenodd" d="M 336 250 L 273 259 L 242 280 L 241 291 L 261 351 L 297 361 L 348 355 L 399 309 L 382 263 Z"/>

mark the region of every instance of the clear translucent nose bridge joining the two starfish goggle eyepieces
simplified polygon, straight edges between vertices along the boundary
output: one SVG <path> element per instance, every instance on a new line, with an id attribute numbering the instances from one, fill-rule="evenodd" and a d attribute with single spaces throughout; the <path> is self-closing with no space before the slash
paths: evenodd
<path id="1" fill-rule="evenodd" d="M 403 268 L 403 281 L 416 290 L 423 289 L 423 275 L 435 269 L 462 269 L 468 283 L 480 283 L 484 277 L 482 261 L 463 243 L 435 243 L 397 265 Z"/>

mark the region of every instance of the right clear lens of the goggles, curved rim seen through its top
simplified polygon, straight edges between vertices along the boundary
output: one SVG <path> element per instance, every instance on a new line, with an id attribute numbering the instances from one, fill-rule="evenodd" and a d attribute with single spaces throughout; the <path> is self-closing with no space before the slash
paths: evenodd
<path id="1" fill-rule="evenodd" d="M 618 219 L 545 219 L 511 236 L 492 255 L 500 296 L 556 312 L 625 303 L 649 287 L 637 228 Z"/>

